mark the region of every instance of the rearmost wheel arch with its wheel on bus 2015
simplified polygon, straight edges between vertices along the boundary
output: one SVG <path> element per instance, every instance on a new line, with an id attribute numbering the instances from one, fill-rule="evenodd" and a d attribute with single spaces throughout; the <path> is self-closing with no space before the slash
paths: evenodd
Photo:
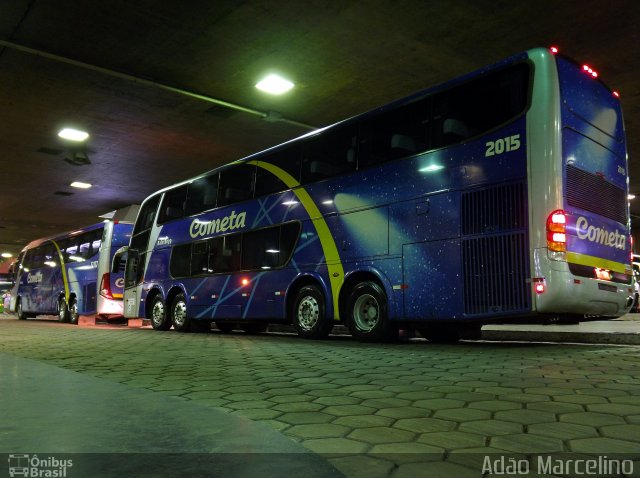
<path id="1" fill-rule="evenodd" d="M 373 273 L 357 272 L 340 292 L 340 311 L 351 335 L 363 342 L 397 338 L 398 327 L 389 320 L 389 300 L 382 281 Z"/>

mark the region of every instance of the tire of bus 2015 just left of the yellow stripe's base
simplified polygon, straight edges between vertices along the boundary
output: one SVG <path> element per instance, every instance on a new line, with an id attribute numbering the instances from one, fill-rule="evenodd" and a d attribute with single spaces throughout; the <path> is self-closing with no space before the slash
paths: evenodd
<path id="1" fill-rule="evenodd" d="M 316 285 L 298 291 L 292 308 L 293 327 L 305 339 L 324 339 L 333 329 L 333 321 L 325 313 L 325 300 Z"/>

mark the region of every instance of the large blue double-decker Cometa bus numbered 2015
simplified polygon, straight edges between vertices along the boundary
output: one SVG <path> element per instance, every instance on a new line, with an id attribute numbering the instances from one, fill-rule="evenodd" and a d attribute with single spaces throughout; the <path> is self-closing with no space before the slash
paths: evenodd
<path id="1" fill-rule="evenodd" d="M 546 48 L 148 197 L 125 316 L 433 341 L 631 306 L 619 95 Z"/>

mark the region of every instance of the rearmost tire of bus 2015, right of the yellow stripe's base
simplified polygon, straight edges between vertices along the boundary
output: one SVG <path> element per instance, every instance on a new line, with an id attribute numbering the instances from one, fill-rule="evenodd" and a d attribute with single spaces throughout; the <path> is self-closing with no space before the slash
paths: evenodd
<path id="1" fill-rule="evenodd" d="M 346 324 L 351 335 L 362 342 L 395 340 L 398 328 L 389 321 L 387 297 L 375 282 L 361 282 L 347 299 Z"/>

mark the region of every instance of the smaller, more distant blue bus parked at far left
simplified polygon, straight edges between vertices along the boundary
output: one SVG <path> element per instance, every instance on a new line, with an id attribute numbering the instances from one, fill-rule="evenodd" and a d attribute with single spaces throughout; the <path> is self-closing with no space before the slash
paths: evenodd
<path id="1" fill-rule="evenodd" d="M 130 222 L 105 221 L 28 244 L 14 265 L 11 311 L 72 324 L 80 315 L 122 317 L 124 272 L 110 269 L 132 230 Z"/>

